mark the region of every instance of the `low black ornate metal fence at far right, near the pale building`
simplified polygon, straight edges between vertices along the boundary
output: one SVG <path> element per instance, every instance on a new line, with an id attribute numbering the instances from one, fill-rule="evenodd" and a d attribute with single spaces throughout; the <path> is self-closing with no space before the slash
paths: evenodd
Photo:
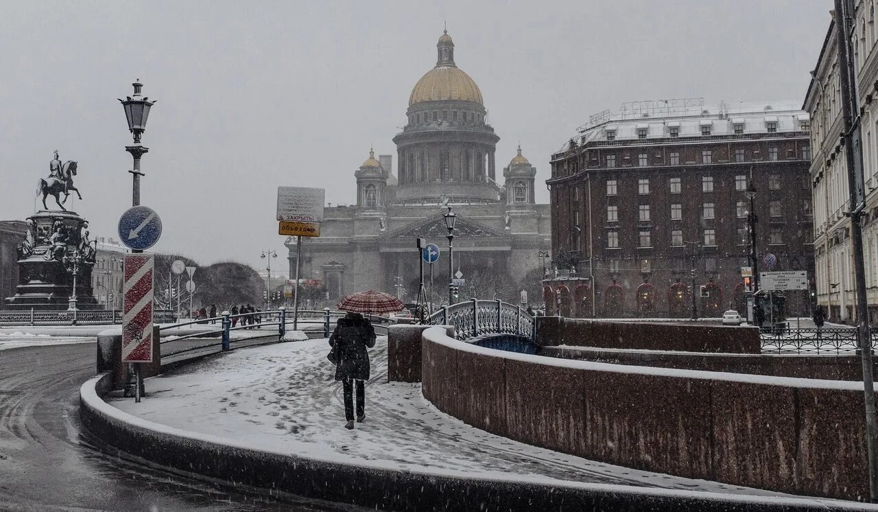
<path id="1" fill-rule="evenodd" d="M 871 332 L 878 348 L 878 331 Z M 860 349 L 855 328 L 764 329 L 759 333 L 763 354 L 843 354 Z"/>

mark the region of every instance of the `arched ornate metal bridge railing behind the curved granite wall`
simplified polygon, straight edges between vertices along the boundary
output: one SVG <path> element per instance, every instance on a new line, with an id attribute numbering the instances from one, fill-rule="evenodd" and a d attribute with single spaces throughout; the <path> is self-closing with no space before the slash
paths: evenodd
<path id="1" fill-rule="evenodd" d="M 444 306 L 427 323 L 453 326 L 458 340 L 487 334 L 534 336 L 534 318 L 521 306 L 502 300 L 472 299 Z"/>

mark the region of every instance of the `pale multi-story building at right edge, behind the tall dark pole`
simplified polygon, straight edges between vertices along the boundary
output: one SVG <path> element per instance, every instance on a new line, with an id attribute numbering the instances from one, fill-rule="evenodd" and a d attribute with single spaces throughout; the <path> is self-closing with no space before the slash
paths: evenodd
<path id="1" fill-rule="evenodd" d="M 874 2 L 854 2 L 853 79 L 857 85 L 866 208 L 863 249 L 870 321 L 878 323 L 878 51 Z M 802 108 L 811 113 L 814 161 L 814 254 L 817 302 L 833 321 L 856 321 L 853 239 L 848 174 L 842 144 L 841 90 L 838 76 L 838 25 L 832 20 L 812 71 Z"/>

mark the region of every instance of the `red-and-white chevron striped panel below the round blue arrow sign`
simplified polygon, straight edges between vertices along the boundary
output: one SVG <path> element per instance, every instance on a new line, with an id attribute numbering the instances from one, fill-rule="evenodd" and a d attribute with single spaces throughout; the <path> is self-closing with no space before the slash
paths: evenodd
<path id="1" fill-rule="evenodd" d="M 122 361 L 153 360 L 153 275 L 155 256 L 126 254 L 122 286 Z"/>

